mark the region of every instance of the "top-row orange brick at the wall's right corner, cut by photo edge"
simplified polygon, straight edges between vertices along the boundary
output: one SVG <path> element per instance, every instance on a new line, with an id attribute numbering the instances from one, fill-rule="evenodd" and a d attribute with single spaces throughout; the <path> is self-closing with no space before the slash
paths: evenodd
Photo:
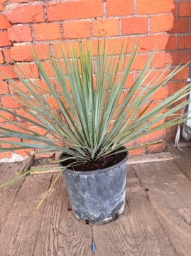
<path id="1" fill-rule="evenodd" d="M 173 11 L 173 0 L 137 0 L 136 14 L 160 14 Z"/>

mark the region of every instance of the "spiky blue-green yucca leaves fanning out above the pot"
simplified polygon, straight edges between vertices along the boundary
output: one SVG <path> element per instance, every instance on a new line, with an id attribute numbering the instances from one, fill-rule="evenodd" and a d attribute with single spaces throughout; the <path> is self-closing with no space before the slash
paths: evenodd
<path id="1" fill-rule="evenodd" d="M 13 112 L 5 106 L 0 107 L 1 117 L 16 128 L 0 127 L 0 142 L 10 145 L 1 147 L 0 152 L 29 148 L 35 148 L 39 152 L 60 151 L 65 153 L 63 161 L 72 159 L 67 163 L 75 166 L 117 154 L 124 144 L 130 144 L 148 133 L 185 121 L 185 117 L 180 119 L 180 114 L 176 112 L 190 102 L 186 100 L 190 93 L 190 84 L 151 107 L 151 97 L 182 68 L 176 68 L 165 76 L 164 80 L 162 78 L 167 70 L 158 77 L 153 77 L 152 53 L 119 104 L 119 98 L 137 55 L 137 46 L 131 54 L 127 54 L 127 50 L 121 46 L 121 53 L 117 56 L 114 49 L 111 55 L 107 54 L 107 41 L 104 41 L 102 46 L 98 41 L 97 57 L 93 56 L 92 43 L 89 42 L 84 48 L 80 43 L 75 48 L 60 46 L 60 51 L 62 58 L 58 58 L 57 53 L 55 56 L 49 53 L 50 59 L 47 61 L 40 60 L 38 55 L 33 53 L 34 62 L 46 88 L 38 85 L 36 78 L 29 79 L 26 73 L 30 71 L 23 73 L 20 65 L 16 63 L 17 71 L 13 69 L 13 72 L 22 86 L 5 77 L 9 80 L 13 92 L 8 96 L 16 100 L 28 116 Z M 68 55 L 71 57 L 67 58 Z M 51 78 L 48 76 L 50 70 L 53 73 Z M 54 107 L 50 99 L 54 101 Z M 42 136 L 31 130 L 30 126 L 23 126 L 22 122 L 6 119 L 4 112 L 40 127 L 49 136 Z M 160 122 L 170 116 L 173 118 Z M 19 132 L 16 132 L 17 128 Z M 10 138 L 18 138 L 18 141 L 11 141 Z"/>

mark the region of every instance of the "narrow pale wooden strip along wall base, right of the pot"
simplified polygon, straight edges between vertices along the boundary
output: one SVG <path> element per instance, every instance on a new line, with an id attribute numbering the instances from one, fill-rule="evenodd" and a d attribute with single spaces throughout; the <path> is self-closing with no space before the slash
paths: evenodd
<path id="1" fill-rule="evenodd" d="M 130 156 L 127 163 L 128 164 L 143 164 L 151 163 L 155 161 L 168 161 L 173 159 L 173 154 L 170 152 L 146 154 L 143 156 Z"/>

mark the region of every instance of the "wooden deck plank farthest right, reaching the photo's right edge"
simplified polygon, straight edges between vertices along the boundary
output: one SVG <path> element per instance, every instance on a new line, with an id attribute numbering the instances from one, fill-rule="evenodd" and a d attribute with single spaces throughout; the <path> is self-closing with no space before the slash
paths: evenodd
<path id="1" fill-rule="evenodd" d="M 191 210 L 191 182 L 172 161 L 133 166 L 178 255 L 190 256 L 191 225 L 178 210 Z"/>

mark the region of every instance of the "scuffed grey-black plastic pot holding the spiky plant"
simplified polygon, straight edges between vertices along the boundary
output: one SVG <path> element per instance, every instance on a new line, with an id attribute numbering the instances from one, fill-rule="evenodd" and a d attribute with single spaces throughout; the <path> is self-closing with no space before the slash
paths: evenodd
<path id="1" fill-rule="evenodd" d="M 70 205 L 76 218 L 89 224 L 115 220 L 124 210 L 126 157 L 114 166 L 95 171 L 63 172 Z"/>

